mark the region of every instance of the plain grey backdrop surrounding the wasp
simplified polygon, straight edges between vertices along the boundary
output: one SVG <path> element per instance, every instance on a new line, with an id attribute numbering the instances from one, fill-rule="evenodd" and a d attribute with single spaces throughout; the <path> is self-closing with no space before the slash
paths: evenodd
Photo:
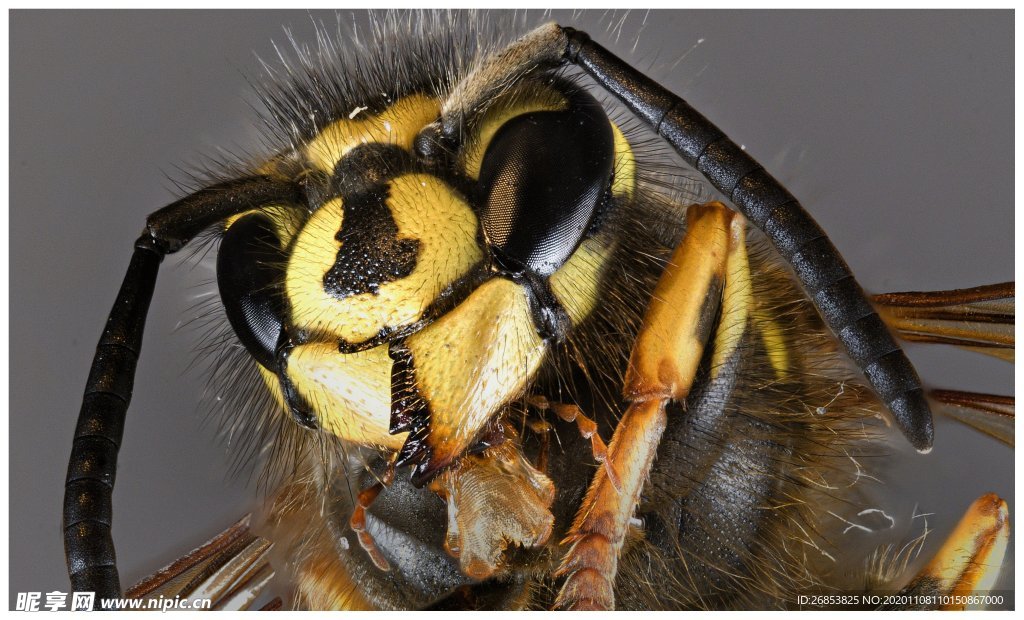
<path id="1" fill-rule="evenodd" d="M 830 233 L 865 288 L 1013 279 L 1012 12 L 637 11 L 618 38 L 604 32 L 603 11 L 554 16 L 588 29 L 745 144 Z M 305 12 L 11 13 L 12 596 L 67 588 L 63 474 L 131 243 L 145 214 L 175 198 L 175 166 L 256 143 L 245 75 L 258 73 L 253 52 L 273 56 L 283 25 L 310 40 Z M 125 585 L 256 501 L 226 476 L 225 449 L 197 413 L 202 377 L 185 372 L 196 335 L 175 331 L 190 316 L 190 287 L 212 272 L 177 262 L 161 275 L 121 453 L 115 531 Z M 931 384 L 1012 392 L 1010 365 L 945 347 L 910 354 Z M 879 476 L 901 526 L 913 503 L 935 513 L 926 555 L 982 492 L 1014 509 L 1013 453 L 992 441 L 939 420 L 931 455 L 896 451 Z"/>

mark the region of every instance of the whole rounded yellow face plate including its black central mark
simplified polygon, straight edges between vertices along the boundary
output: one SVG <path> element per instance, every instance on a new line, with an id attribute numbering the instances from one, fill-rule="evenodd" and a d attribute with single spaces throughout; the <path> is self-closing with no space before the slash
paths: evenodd
<path id="1" fill-rule="evenodd" d="M 402 174 L 374 192 L 333 198 L 313 212 L 288 265 L 292 323 L 346 347 L 417 326 L 483 259 L 476 216 L 441 179 Z M 370 220 L 368 210 L 386 216 Z M 391 230 L 381 231 L 382 220 Z M 382 232 L 390 239 L 373 237 Z"/>

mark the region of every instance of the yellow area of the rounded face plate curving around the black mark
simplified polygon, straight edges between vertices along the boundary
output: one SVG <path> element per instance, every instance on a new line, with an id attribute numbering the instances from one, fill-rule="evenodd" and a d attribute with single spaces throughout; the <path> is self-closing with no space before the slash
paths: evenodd
<path id="1" fill-rule="evenodd" d="M 420 242 L 416 268 L 407 277 L 372 292 L 339 299 L 324 290 L 324 276 L 334 266 L 343 230 L 340 198 L 329 201 L 309 218 L 296 240 L 288 263 L 286 290 L 292 325 L 330 334 L 350 343 L 365 342 L 386 327 L 404 327 L 450 284 L 483 259 L 476 242 L 476 215 L 443 181 L 426 174 L 391 180 L 387 207 L 398 239 Z"/>

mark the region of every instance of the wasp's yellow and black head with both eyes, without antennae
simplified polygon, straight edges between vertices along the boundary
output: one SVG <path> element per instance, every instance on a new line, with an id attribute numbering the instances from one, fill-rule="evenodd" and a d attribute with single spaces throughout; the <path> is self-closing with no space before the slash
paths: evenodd
<path id="1" fill-rule="evenodd" d="M 306 204 L 233 218 L 218 255 L 231 325 L 296 421 L 397 452 L 417 484 L 500 443 L 488 423 L 597 304 L 602 224 L 632 191 L 622 133 L 561 78 L 523 80 L 443 156 L 418 152 L 449 104 L 334 120 L 273 164 Z"/>

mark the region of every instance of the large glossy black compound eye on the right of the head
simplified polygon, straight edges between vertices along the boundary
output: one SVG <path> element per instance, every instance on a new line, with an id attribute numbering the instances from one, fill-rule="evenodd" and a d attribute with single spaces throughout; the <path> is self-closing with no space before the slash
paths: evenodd
<path id="1" fill-rule="evenodd" d="M 496 266 L 550 276 L 575 251 L 611 181 L 604 111 L 578 92 L 564 111 L 505 123 L 480 167 L 482 225 Z"/>

